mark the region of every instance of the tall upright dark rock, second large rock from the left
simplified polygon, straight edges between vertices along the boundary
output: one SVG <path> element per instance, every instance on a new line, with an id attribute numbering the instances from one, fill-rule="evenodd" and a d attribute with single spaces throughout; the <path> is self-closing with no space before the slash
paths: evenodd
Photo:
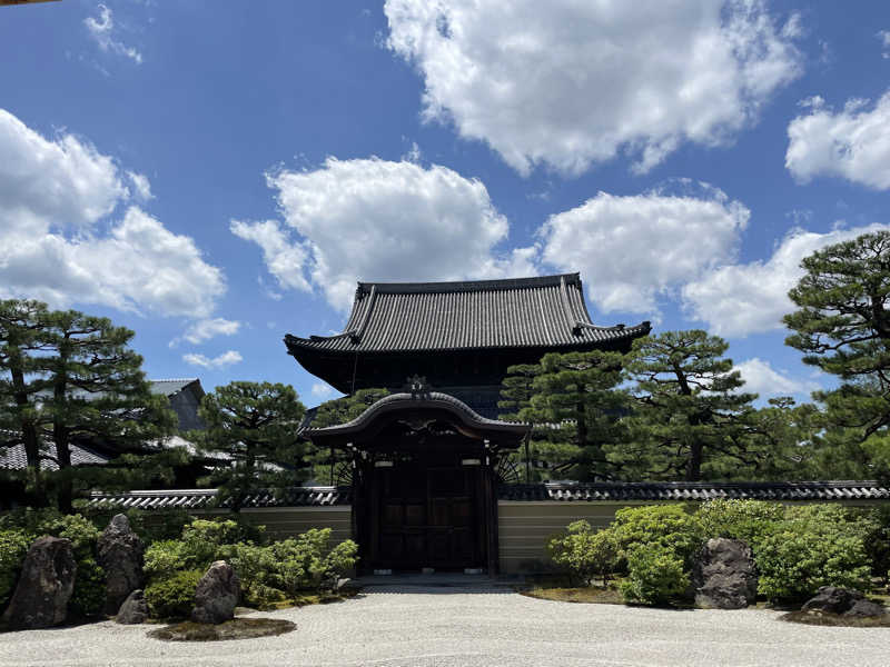
<path id="1" fill-rule="evenodd" d="M 142 587 L 145 545 L 127 515 L 115 515 L 99 537 L 99 565 L 106 576 L 105 613 L 112 616 L 134 590 Z"/>

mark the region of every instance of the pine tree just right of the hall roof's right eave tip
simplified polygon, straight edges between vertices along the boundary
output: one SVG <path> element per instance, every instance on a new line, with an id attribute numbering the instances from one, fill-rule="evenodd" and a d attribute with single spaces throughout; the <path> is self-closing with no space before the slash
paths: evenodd
<path id="1" fill-rule="evenodd" d="M 626 370 L 636 382 L 626 424 L 635 472 L 646 478 L 689 481 L 714 476 L 723 457 L 744 462 L 743 419 L 753 394 L 723 357 L 729 345 L 705 331 L 666 331 L 634 341 Z M 718 466 L 719 468 L 720 466 Z"/>

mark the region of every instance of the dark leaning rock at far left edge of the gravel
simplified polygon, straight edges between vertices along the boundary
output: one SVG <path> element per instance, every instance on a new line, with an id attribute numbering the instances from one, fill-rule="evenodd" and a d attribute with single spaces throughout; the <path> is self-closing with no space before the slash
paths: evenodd
<path id="1" fill-rule="evenodd" d="M 13 629 L 48 628 L 65 623 L 75 590 L 75 550 L 71 540 L 41 537 L 24 557 L 19 584 L 3 614 Z"/>

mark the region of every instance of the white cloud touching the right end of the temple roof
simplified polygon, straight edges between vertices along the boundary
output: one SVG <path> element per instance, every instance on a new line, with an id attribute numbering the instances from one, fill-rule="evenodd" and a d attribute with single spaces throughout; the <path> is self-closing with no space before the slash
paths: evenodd
<path id="1" fill-rule="evenodd" d="M 698 189 L 698 196 L 600 192 L 550 217 L 542 258 L 560 270 L 580 269 L 590 299 L 605 312 L 656 312 L 660 296 L 733 259 L 748 222 L 744 206 L 704 183 Z"/>

